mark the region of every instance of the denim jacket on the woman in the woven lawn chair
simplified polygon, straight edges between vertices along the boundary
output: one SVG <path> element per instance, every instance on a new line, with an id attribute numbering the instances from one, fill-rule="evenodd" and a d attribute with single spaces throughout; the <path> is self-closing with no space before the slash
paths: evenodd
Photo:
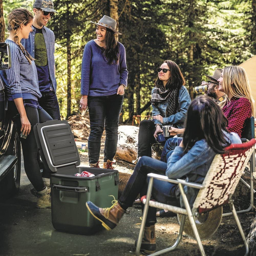
<path id="1" fill-rule="evenodd" d="M 230 143 L 241 143 L 236 133 L 225 132 L 225 135 Z M 197 141 L 186 154 L 183 152 L 183 148 L 177 146 L 168 159 L 166 176 L 171 179 L 186 176 L 186 181 L 203 183 L 215 155 L 216 153 L 209 147 L 205 139 Z M 192 207 L 199 189 L 184 186 L 184 191 Z M 179 197 L 177 194 L 176 196 Z M 181 197 L 180 205 L 184 207 Z"/>

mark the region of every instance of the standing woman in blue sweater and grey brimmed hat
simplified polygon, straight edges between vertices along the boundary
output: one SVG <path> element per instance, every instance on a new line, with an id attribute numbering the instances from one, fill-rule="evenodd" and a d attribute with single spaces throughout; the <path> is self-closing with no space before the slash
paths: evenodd
<path id="1" fill-rule="evenodd" d="M 94 23 L 94 22 L 92 22 Z M 127 87 L 128 71 L 125 47 L 116 41 L 116 21 L 104 15 L 96 26 L 96 39 L 84 47 L 81 70 L 80 111 L 89 108 L 89 163 L 99 168 L 99 151 L 103 129 L 106 140 L 103 168 L 113 169 L 118 123 Z"/>

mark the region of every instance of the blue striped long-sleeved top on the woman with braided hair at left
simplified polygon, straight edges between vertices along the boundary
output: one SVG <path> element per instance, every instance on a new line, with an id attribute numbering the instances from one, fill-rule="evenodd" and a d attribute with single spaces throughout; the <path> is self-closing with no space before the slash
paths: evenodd
<path id="1" fill-rule="evenodd" d="M 7 39 L 10 45 L 12 67 L 1 70 L 0 75 L 6 85 L 8 100 L 17 98 L 34 99 L 41 98 L 38 86 L 38 76 L 35 62 L 29 64 L 20 47 L 13 41 Z"/>

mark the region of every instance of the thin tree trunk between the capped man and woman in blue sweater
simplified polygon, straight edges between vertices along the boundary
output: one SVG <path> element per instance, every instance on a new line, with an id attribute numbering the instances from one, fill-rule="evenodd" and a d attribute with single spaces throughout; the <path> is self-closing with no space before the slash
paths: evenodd
<path id="1" fill-rule="evenodd" d="M 67 118 L 71 116 L 71 45 L 67 37 Z"/>

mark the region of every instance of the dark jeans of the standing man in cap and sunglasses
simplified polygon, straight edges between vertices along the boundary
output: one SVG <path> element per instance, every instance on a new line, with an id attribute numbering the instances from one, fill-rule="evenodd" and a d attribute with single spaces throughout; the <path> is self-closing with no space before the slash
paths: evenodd
<path id="1" fill-rule="evenodd" d="M 39 105 L 52 117 L 52 119 L 61 119 L 60 108 L 55 91 L 49 90 L 42 92 L 42 97 L 38 99 Z"/>

